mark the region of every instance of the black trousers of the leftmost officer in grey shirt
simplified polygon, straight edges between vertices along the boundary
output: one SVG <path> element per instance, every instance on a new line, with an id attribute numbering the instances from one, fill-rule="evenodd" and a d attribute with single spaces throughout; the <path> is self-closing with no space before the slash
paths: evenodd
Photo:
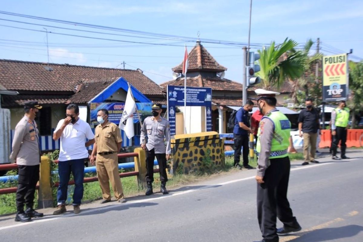
<path id="1" fill-rule="evenodd" d="M 19 184 L 16 190 L 16 209 L 18 213 L 24 213 L 26 208 L 33 208 L 34 192 L 39 180 L 39 165 L 18 165 Z"/>

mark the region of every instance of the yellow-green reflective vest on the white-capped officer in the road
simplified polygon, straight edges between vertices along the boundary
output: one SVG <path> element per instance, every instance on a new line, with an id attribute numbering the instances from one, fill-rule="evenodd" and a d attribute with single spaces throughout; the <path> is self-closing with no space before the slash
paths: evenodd
<path id="1" fill-rule="evenodd" d="M 282 158 L 287 156 L 287 147 L 289 147 L 290 142 L 290 130 L 291 123 L 289 119 L 280 111 L 271 112 L 268 116 L 262 117 L 260 125 L 257 131 L 257 144 L 256 151 L 257 156 L 260 155 L 261 151 L 261 125 L 264 125 L 264 119 L 270 119 L 275 125 L 274 135 L 271 142 L 271 152 L 269 159 Z M 263 145 L 263 144 L 262 144 Z"/>

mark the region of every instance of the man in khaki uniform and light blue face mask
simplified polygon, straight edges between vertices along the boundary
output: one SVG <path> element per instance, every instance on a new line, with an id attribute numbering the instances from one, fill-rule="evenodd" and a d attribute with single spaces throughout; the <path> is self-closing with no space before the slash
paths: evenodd
<path id="1" fill-rule="evenodd" d="M 103 197 L 102 204 L 111 201 L 109 180 L 117 201 L 126 202 L 118 173 L 117 152 L 121 148 L 121 132 L 116 124 L 108 120 L 108 115 L 109 112 L 106 109 L 97 112 L 99 125 L 95 128 L 96 142 L 90 159 L 91 164 L 96 161 L 97 176 Z"/>

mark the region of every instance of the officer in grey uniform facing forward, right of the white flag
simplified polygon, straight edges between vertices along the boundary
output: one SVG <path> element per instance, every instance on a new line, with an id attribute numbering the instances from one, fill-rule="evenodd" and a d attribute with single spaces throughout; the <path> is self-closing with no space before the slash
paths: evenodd
<path id="1" fill-rule="evenodd" d="M 165 185 L 168 181 L 166 174 L 166 161 L 171 158 L 170 125 L 167 119 L 160 116 L 161 112 L 162 105 L 154 104 L 152 106 L 152 116 L 147 117 L 141 127 L 140 144 L 141 148 L 146 150 L 146 196 L 152 194 L 155 156 L 159 164 L 161 181 L 160 192 L 163 194 L 169 193 Z M 145 136 L 148 138 L 147 143 Z"/>

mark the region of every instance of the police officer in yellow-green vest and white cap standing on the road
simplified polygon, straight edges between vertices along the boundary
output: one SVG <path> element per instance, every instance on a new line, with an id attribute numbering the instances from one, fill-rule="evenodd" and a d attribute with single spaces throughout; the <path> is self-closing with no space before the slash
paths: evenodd
<path id="1" fill-rule="evenodd" d="M 289 119 L 276 109 L 273 91 L 256 89 L 257 105 L 262 117 L 258 132 L 256 151 L 257 164 L 257 217 L 263 239 L 261 242 L 278 242 L 278 234 L 301 230 L 293 216 L 287 200 L 290 160 L 287 155 L 289 147 Z M 276 229 L 276 217 L 284 227 Z"/>

